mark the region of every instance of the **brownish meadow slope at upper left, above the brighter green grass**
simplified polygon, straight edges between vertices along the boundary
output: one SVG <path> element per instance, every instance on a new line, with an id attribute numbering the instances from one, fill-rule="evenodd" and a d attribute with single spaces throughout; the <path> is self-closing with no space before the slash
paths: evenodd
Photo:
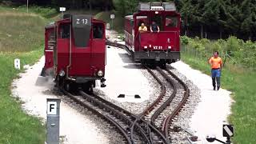
<path id="1" fill-rule="evenodd" d="M 0 19 L 0 51 L 25 52 L 42 44 L 46 18 L 2 8 Z"/>

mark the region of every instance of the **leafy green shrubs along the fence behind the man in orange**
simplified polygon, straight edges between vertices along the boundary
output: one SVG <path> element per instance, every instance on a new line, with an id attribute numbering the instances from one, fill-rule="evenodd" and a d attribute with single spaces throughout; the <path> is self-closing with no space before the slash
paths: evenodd
<path id="1" fill-rule="evenodd" d="M 238 39 L 234 36 L 226 40 L 218 39 L 217 41 L 210 41 L 206 38 L 188 38 L 182 36 L 182 45 L 186 45 L 186 49 L 198 51 L 202 56 L 209 57 L 215 50 L 222 52 L 222 56 L 229 54 L 239 64 L 247 67 L 256 65 L 256 42 Z"/>

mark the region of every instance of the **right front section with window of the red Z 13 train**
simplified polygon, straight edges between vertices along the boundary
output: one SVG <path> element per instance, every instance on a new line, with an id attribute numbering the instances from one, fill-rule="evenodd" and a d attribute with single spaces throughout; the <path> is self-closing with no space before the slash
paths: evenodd
<path id="1" fill-rule="evenodd" d="M 106 65 L 106 33 L 105 25 L 102 22 L 94 22 L 91 46 L 91 64 L 94 72 L 97 70 L 105 71 Z"/>

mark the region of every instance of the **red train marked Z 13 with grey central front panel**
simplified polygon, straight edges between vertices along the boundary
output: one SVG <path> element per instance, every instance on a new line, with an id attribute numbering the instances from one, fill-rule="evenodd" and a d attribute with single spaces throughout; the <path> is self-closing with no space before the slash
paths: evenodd
<path id="1" fill-rule="evenodd" d="M 42 75 L 51 74 L 58 86 L 70 90 L 93 90 L 95 80 L 106 86 L 105 22 L 90 15 L 67 14 L 50 23 L 45 32 L 45 66 Z"/>

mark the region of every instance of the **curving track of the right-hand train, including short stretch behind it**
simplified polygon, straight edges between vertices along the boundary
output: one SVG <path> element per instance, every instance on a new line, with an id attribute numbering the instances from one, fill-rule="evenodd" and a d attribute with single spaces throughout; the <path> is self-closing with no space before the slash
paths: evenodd
<path id="1" fill-rule="evenodd" d="M 122 49 L 125 48 L 125 45 L 110 42 L 109 40 L 106 41 L 106 44 Z M 190 90 L 186 84 L 170 70 L 162 70 L 158 66 L 156 67 L 157 70 L 151 70 L 147 66 L 145 66 L 145 68 L 160 84 L 161 93 L 138 117 L 146 118 L 146 120 L 150 121 L 150 124 L 155 127 L 161 127 L 159 129 L 162 130 L 166 140 L 170 142 L 170 124 L 175 116 L 178 115 L 178 112 L 182 110 L 182 106 L 185 105 L 190 95 Z M 165 110 L 167 112 L 165 112 Z M 162 124 L 162 126 L 157 126 L 159 123 L 160 125 Z"/>

